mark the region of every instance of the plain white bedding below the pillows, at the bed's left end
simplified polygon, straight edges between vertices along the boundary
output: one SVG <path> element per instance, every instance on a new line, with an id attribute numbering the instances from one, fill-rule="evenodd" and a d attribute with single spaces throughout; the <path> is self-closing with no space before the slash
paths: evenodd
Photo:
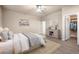
<path id="1" fill-rule="evenodd" d="M 12 40 L 8 40 L 6 42 L 0 42 L 0 53 L 12 53 Z"/>

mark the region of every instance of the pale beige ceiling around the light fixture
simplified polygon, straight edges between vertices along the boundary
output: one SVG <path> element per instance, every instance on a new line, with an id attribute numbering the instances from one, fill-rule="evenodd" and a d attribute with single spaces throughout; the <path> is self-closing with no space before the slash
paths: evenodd
<path id="1" fill-rule="evenodd" d="M 30 14 L 30 15 L 36 15 L 36 16 L 40 15 L 40 13 L 37 12 L 36 5 L 4 5 L 3 8 L 21 12 L 24 14 Z M 47 14 L 50 14 L 51 12 L 60 10 L 62 6 L 43 5 L 43 8 L 44 8 L 44 12 L 41 15 L 47 15 Z"/>

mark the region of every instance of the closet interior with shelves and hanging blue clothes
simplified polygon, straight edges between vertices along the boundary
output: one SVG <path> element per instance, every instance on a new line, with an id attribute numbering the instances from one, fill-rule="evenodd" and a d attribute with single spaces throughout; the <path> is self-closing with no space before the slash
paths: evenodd
<path id="1" fill-rule="evenodd" d="M 70 15 L 70 38 L 77 39 L 77 15 Z"/>

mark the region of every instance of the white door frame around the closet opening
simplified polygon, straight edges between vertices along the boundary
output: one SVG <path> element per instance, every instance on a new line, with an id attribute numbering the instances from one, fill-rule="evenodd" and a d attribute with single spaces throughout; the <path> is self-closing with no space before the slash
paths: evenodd
<path id="1" fill-rule="evenodd" d="M 70 15 L 77 15 L 77 45 L 79 45 L 79 12 L 77 13 L 69 13 L 69 14 L 65 14 L 62 17 L 62 41 L 66 41 L 66 32 L 65 32 L 65 18 L 66 16 L 70 16 Z"/>

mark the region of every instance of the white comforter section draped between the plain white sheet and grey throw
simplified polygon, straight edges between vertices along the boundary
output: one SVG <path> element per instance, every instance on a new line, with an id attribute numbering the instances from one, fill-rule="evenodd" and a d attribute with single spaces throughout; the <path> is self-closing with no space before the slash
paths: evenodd
<path id="1" fill-rule="evenodd" d="M 15 53 L 29 50 L 28 38 L 21 33 L 15 34 L 14 36 L 14 51 Z"/>

